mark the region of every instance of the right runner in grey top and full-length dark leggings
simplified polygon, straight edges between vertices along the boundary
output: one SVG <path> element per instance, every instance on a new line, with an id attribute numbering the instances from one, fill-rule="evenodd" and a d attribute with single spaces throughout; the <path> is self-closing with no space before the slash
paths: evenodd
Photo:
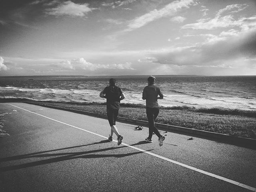
<path id="1" fill-rule="evenodd" d="M 153 132 L 158 136 L 159 146 L 163 145 L 165 137 L 162 136 L 158 129 L 155 126 L 155 120 L 159 114 L 159 105 L 157 100 L 163 99 L 164 95 L 162 94 L 159 87 L 155 86 L 156 78 L 154 76 L 150 76 L 148 78 L 148 86 L 146 86 L 142 93 L 142 99 L 146 100 L 146 113 L 148 118 L 148 126 L 149 126 L 149 135 L 146 138 L 146 142 L 152 143 L 152 135 Z M 159 95 L 159 97 L 158 97 Z"/>

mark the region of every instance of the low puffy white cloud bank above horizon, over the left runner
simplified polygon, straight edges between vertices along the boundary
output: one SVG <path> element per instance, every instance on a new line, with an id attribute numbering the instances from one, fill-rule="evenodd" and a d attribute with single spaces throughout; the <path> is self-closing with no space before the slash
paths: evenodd
<path id="1" fill-rule="evenodd" d="M 131 67 L 131 63 L 126 62 L 125 64 L 92 64 L 88 61 L 86 61 L 84 58 L 78 58 L 74 60 L 64 60 L 59 63 L 54 63 L 52 66 L 62 68 L 62 69 L 68 69 L 68 70 L 87 70 L 87 71 L 96 71 L 99 69 L 128 69 L 128 70 L 134 70 L 134 68 Z"/>

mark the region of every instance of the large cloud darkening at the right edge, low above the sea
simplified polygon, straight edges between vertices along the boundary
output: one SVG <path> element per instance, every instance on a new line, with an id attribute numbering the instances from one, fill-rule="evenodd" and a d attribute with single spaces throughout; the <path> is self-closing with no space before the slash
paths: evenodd
<path id="1" fill-rule="evenodd" d="M 240 33 L 228 30 L 218 36 L 207 34 L 205 37 L 206 41 L 202 44 L 152 52 L 149 56 L 156 58 L 160 64 L 180 66 L 219 66 L 242 58 L 247 58 L 246 62 L 256 59 L 256 30 Z M 229 65 L 232 66 L 232 63 Z"/>

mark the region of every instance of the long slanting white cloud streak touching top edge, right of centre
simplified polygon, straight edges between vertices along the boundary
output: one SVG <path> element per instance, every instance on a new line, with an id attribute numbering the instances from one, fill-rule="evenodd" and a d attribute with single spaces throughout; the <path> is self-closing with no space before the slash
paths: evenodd
<path id="1" fill-rule="evenodd" d="M 128 24 L 128 28 L 125 31 L 132 31 L 134 29 L 140 28 L 154 20 L 157 20 L 162 17 L 172 16 L 176 14 L 182 8 L 189 8 L 189 6 L 196 5 L 195 0 L 180 0 L 174 1 L 164 8 L 160 10 L 152 10 L 147 14 L 144 14 L 140 17 L 135 18 L 134 20 L 130 21 Z"/>

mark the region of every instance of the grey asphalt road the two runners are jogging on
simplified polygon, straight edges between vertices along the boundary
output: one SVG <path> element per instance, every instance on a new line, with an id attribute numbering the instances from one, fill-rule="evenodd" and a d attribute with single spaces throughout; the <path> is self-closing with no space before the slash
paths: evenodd
<path id="1" fill-rule="evenodd" d="M 117 146 L 106 119 L 24 103 L 0 113 L 2 192 L 256 191 L 256 150 L 164 131 L 159 147 L 155 135 L 144 142 L 148 128 L 120 122 Z"/>

